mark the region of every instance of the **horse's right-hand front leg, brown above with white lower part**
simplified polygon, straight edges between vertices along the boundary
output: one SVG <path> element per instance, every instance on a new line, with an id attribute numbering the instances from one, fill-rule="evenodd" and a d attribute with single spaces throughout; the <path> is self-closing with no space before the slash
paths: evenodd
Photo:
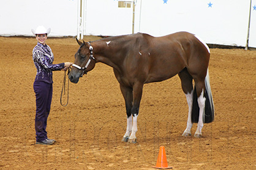
<path id="1" fill-rule="evenodd" d="M 136 138 L 136 132 L 138 131 L 137 128 L 137 117 L 138 117 L 138 111 L 140 109 L 140 100 L 142 96 L 142 89 L 143 89 L 143 84 L 141 83 L 136 83 L 134 84 L 133 87 L 133 106 L 132 106 L 132 133 L 130 134 L 129 137 L 129 142 L 130 143 L 136 143 L 137 138 Z"/>

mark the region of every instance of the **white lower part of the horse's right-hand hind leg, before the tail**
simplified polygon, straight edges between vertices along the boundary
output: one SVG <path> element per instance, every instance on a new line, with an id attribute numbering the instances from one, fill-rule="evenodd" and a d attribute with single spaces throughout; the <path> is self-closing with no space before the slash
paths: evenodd
<path id="1" fill-rule="evenodd" d="M 195 137 L 200 138 L 201 137 L 201 129 L 203 128 L 203 114 L 205 112 L 205 100 L 206 98 L 203 97 L 203 90 L 200 94 L 200 97 L 198 97 L 197 102 L 199 106 L 199 119 L 197 124 L 197 131 L 195 131 Z"/>

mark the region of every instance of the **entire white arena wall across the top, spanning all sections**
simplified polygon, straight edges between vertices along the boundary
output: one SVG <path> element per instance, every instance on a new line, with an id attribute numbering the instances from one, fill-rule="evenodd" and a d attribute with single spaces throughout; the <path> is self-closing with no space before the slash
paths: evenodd
<path id="1" fill-rule="evenodd" d="M 50 27 L 50 36 L 75 36 L 78 29 L 84 35 L 132 34 L 132 8 L 119 8 L 118 0 L 82 0 L 85 23 L 81 27 L 80 1 L 0 0 L 0 35 L 32 36 L 31 29 L 38 25 Z M 250 0 L 165 1 L 135 0 L 134 32 L 160 36 L 189 31 L 206 43 L 246 46 Z M 256 48 L 254 6 L 256 0 L 252 0 L 249 46 Z"/>

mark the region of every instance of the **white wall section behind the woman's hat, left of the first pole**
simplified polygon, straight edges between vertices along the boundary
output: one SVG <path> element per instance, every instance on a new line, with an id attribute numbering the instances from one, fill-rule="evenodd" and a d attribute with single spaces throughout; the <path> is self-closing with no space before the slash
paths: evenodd
<path id="1" fill-rule="evenodd" d="M 0 35 L 33 35 L 51 28 L 49 36 L 77 35 L 77 0 L 0 1 Z"/>

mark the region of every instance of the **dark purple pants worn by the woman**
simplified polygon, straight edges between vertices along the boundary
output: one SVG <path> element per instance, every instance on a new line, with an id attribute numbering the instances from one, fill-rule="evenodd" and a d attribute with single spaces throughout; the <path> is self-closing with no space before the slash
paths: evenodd
<path id="1" fill-rule="evenodd" d="M 36 141 L 41 142 L 47 139 L 46 127 L 53 97 L 53 84 L 34 81 L 34 92 L 36 93 Z"/>

